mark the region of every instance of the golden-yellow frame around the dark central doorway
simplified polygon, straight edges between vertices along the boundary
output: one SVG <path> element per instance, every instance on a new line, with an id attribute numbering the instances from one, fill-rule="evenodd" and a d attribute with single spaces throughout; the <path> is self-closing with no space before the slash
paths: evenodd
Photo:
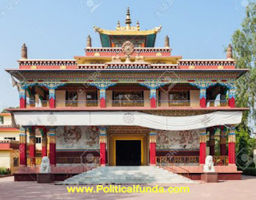
<path id="1" fill-rule="evenodd" d="M 110 138 L 110 165 L 116 166 L 116 141 L 117 140 L 140 140 L 141 141 L 141 165 L 146 165 L 146 138 L 145 135 L 112 135 Z"/>

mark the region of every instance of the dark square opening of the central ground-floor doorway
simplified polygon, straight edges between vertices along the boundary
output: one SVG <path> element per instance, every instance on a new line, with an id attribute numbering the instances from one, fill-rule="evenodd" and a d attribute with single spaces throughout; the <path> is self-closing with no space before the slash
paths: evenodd
<path id="1" fill-rule="evenodd" d="M 116 140 L 116 165 L 139 166 L 141 165 L 140 140 Z"/>

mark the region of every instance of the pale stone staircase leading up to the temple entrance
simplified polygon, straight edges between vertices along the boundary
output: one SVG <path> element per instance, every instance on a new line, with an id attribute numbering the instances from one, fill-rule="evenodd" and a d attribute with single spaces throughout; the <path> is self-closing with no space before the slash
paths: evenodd
<path id="1" fill-rule="evenodd" d="M 166 171 L 159 167 L 98 167 L 74 175 L 56 185 L 89 184 L 143 184 L 143 183 L 194 183 L 190 178 Z"/>

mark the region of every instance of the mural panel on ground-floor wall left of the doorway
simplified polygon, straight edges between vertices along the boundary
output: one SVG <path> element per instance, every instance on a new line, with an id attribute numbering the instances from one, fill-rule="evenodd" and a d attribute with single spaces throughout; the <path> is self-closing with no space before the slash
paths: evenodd
<path id="1" fill-rule="evenodd" d="M 57 149 L 99 149 L 98 127 L 58 127 Z"/>

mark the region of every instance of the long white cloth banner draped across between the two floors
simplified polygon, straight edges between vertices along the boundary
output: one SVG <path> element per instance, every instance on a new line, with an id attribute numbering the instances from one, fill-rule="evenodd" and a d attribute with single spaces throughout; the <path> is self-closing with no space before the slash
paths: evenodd
<path id="1" fill-rule="evenodd" d="M 140 126 L 185 131 L 239 124 L 242 112 L 212 112 L 198 116 L 154 116 L 142 112 L 14 112 L 20 126 Z"/>

